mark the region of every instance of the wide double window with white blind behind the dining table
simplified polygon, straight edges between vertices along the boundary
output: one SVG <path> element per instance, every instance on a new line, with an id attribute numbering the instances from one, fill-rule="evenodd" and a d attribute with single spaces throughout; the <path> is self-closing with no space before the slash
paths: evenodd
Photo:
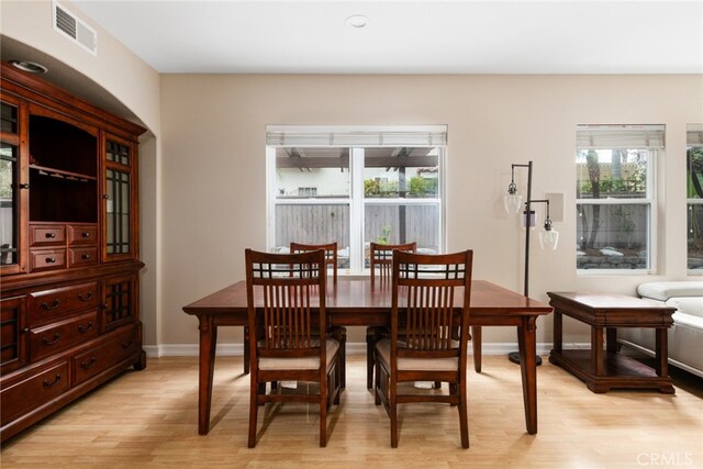
<path id="1" fill-rule="evenodd" d="M 445 126 L 268 126 L 268 249 L 336 241 L 362 272 L 371 242 L 442 253 Z"/>

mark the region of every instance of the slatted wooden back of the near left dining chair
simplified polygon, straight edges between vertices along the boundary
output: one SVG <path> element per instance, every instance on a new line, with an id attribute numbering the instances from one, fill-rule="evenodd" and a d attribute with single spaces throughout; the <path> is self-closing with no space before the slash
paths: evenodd
<path id="1" fill-rule="evenodd" d="M 259 356 L 320 355 L 320 337 L 326 330 L 324 250 L 269 254 L 247 249 L 245 256 L 249 330 L 256 331 L 250 339 Z M 260 290 L 258 295 L 256 290 Z M 263 304 L 255 304 L 257 298 Z"/>

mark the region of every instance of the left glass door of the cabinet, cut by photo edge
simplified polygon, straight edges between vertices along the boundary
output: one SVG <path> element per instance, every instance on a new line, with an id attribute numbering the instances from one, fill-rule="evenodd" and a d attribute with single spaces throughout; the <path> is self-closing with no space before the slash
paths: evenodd
<path id="1" fill-rule="evenodd" d="M 20 230 L 29 188 L 20 156 L 20 105 L 5 99 L 0 102 L 0 271 L 3 275 L 24 270 Z"/>

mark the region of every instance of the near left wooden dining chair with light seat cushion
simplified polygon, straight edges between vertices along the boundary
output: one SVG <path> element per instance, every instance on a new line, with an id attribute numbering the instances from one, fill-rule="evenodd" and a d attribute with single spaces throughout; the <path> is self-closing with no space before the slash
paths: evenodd
<path id="1" fill-rule="evenodd" d="M 320 446 L 327 444 L 327 411 L 339 403 L 339 342 L 330 334 L 325 311 L 326 261 L 323 249 L 270 254 L 246 249 L 249 327 L 249 435 L 257 442 L 259 405 L 309 402 L 320 406 Z M 319 383 L 315 394 L 284 393 L 268 382 Z"/>

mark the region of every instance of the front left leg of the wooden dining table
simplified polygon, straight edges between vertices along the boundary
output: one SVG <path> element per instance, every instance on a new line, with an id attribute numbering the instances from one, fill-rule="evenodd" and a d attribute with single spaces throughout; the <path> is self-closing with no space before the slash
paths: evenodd
<path id="1" fill-rule="evenodd" d="M 212 400 L 212 377 L 215 369 L 217 327 L 212 316 L 200 317 L 200 375 L 198 381 L 198 434 L 210 431 L 210 404 Z"/>

